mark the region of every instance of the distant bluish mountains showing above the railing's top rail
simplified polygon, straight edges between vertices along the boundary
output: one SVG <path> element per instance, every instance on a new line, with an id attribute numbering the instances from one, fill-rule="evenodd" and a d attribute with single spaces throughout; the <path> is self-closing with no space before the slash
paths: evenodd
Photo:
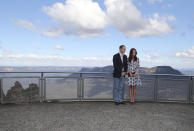
<path id="1" fill-rule="evenodd" d="M 76 66 L 0 66 L 1 72 L 113 72 L 113 66 L 104 67 L 76 67 Z M 187 71 L 188 73 L 189 71 Z M 140 67 L 141 74 L 176 74 L 182 75 L 179 70 L 171 66 L 156 66 L 152 68 Z"/>

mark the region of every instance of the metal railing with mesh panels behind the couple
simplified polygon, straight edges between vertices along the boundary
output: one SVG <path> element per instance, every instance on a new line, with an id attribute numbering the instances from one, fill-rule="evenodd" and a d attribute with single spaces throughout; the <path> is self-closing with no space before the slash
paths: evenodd
<path id="1" fill-rule="evenodd" d="M 193 76 L 140 76 L 142 86 L 137 87 L 137 101 L 194 103 Z M 112 73 L 106 72 L 0 72 L 0 87 L 2 104 L 60 100 L 113 101 Z M 129 100 L 127 78 L 123 97 Z"/>

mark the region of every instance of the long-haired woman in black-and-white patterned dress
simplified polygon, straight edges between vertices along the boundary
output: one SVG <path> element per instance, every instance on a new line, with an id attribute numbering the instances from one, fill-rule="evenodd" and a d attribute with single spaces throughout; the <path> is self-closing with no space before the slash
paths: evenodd
<path id="1" fill-rule="evenodd" d="M 136 86 L 141 85 L 141 80 L 139 78 L 139 58 L 137 58 L 137 50 L 132 48 L 129 53 L 128 58 L 128 86 L 130 102 L 134 103 Z"/>

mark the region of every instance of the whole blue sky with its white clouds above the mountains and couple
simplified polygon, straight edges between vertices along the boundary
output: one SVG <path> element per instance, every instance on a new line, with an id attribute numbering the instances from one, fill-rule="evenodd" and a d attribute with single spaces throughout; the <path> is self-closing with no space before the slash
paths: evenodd
<path id="1" fill-rule="evenodd" d="M 141 66 L 194 67 L 193 0 L 1 0 L 0 65 L 105 66 L 121 44 Z"/>

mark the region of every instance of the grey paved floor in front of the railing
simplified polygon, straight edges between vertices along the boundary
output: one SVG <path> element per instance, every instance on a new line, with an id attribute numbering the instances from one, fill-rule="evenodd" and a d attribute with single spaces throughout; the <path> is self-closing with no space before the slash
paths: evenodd
<path id="1" fill-rule="evenodd" d="M 0 131 L 194 131 L 194 104 L 0 105 Z"/>

